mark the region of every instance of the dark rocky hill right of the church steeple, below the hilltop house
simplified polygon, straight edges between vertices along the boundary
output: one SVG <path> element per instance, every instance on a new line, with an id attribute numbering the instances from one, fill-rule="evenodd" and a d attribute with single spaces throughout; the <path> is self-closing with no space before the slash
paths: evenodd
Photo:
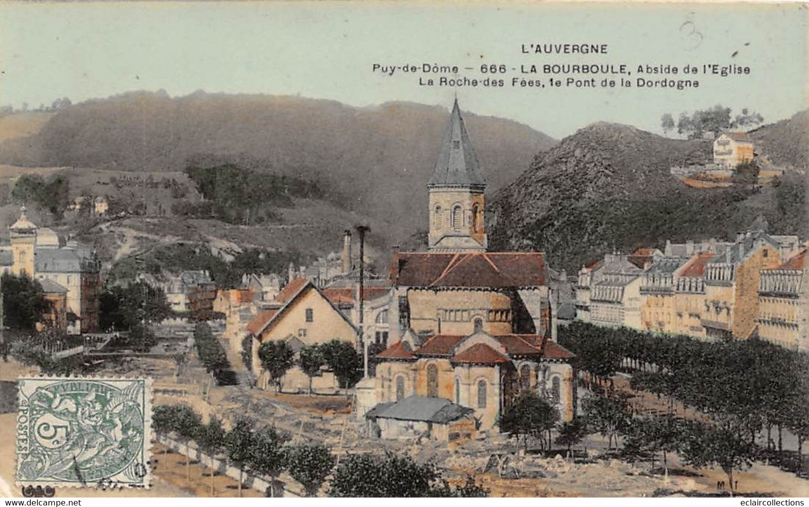
<path id="1" fill-rule="evenodd" d="M 774 234 L 806 234 L 805 181 L 777 187 L 688 188 L 671 163 L 702 163 L 711 145 L 626 125 L 597 123 L 537 155 L 488 209 L 494 249 L 546 251 L 569 272 L 618 249 L 662 247 L 666 239 L 730 238 L 759 215 Z"/>

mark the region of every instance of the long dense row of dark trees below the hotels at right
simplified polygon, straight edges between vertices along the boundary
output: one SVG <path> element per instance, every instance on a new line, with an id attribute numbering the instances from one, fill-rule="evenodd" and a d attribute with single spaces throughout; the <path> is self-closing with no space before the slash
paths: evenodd
<path id="1" fill-rule="evenodd" d="M 798 437 L 798 454 L 809 435 L 809 357 L 763 340 L 706 342 L 631 329 L 572 323 L 560 343 L 576 353 L 577 367 L 598 383 L 619 370 L 632 373 L 630 387 L 679 400 L 719 429 L 751 445 L 773 427 Z"/>

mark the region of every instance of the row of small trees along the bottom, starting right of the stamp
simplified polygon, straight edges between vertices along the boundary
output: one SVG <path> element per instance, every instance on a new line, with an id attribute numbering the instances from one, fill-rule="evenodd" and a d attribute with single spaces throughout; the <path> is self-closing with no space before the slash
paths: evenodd
<path id="1" fill-rule="evenodd" d="M 315 496 L 330 475 L 329 496 L 486 496 L 488 492 L 471 479 L 453 488 L 434 465 L 415 463 L 412 458 L 396 454 L 352 454 L 335 467 L 337 458 L 321 444 L 292 445 L 285 433 L 272 427 L 256 428 L 247 418 L 237 420 L 230 431 L 215 416 L 203 424 L 201 416 L 188 405 L 156 406 L 152 427 L 159 434 L 176 433 L 184 440 L 188 481 L 189 443 L 196 442 L 208 454 L 211 496 L 215 493 L 214 458 L 220 454 L 239 468 L 239 496 L 245 469 L 273 481 L 287 471 L 303 485 L 307 496 Z"/>

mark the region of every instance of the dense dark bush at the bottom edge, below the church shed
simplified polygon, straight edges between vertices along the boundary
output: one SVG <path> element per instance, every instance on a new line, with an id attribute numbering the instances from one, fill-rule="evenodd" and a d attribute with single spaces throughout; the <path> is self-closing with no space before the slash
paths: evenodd
<path id="1" fill-rule="evenodd" d="M 334 470 L 328 496 L 486 496 L 488 492 L 473 480 L 450 488 L 432 463 L 420 464 L 388 452 L 384 456 L 350 454 Z"/>

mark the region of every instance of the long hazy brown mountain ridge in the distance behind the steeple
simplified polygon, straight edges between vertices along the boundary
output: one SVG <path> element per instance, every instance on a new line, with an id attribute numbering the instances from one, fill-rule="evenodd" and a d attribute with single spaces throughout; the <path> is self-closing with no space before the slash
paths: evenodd
<path id="1" fill-rule="evenodd" d="M 399 242 L 426 228 L 425 185 L 447 115 L 409 103 L 353 108 L 291 96 L 133 92 L 60 110 L 38 133 L 0 143 L 0 163 L 116 171 L 238 163 L 315 181 L 328 205 L 376 218 L 385 239 Z M 553 144 L 511 120 L 465 119 L 490 192 Z"/>

